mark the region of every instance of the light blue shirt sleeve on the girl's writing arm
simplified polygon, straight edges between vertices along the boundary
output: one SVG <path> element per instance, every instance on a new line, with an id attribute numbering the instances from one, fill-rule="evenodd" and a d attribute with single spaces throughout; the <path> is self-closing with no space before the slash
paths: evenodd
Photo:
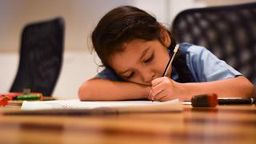
<path id="1" fill-rule="evenodd" d="M 196 82 L 210 82 L 242 75 L 202 46 L 190 46 L 186 58 Z"/>

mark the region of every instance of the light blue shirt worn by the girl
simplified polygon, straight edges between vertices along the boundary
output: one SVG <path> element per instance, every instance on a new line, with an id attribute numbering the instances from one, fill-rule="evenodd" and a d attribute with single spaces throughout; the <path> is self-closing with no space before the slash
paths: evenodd
<path id="1" fill-rule="evenodd" d="M 186 65 L 192 74 L 194 82 L 211 82 L 219 79 L 234 78 L 242 75 L 226 62 L 218 59 L 214 54 L 202 46 L 190 43 L 181 43 L 179 50 L 186 54 Z M 169 52 L 170 54 L 170 52 Z M 178 79 L 176 70 L 172 69 L 171 78 Z M 96 75 L 96 78 L 106 78 L 114 81 L 123 81 L 113 70 L 105 68 Z"/>

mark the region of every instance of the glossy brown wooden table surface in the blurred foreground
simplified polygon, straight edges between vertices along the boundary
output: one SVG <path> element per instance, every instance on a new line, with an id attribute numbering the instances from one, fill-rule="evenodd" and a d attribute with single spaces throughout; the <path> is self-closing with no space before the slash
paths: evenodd
<path id="1" fill-rule="evenodd" d="M 255 143 L 256 106 L 181 113 L 87 116 L 0 115 L 0 143 Z"/>

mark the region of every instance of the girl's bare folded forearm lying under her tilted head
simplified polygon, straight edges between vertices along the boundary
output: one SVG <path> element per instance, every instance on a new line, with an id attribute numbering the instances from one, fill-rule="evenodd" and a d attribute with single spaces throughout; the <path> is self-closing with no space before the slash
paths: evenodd
<path id="1" fill-rule="evenodd" d="M 150 86 L 92 78 L 79 88 L 78 98 L 84 101 L 140 99 L 147 98 L 149 91 Z"/>

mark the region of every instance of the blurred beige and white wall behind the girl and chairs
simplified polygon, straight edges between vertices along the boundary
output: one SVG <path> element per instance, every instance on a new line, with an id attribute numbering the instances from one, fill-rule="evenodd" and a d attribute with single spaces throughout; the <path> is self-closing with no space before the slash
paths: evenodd
<path id="1" fill-rule="evenodd" d="M 62 72 L 55 97 L 77 98 L 78 87 L 97 74 L 96 54 L 90 53 L 90 33 L 106 12 L 117 6 L 138 6 L 170 26 L 181 10 L 221 6 L 256 0 L 0 0 L 0 93 L 10 89 L 18 70 L 18 50 L 23 26 L 61 16 L 66 22 Z"/>

